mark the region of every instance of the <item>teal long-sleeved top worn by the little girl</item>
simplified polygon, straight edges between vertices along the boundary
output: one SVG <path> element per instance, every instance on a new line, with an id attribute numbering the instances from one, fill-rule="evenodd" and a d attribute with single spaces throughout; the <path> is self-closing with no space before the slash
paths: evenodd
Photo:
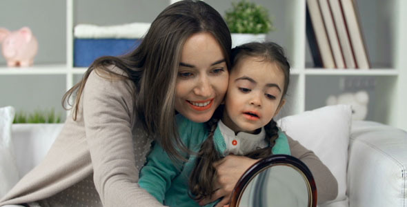
<path id="1" fill-rule="evenodd" d="M 177 115 L 177 126 L 179 137 L 188 149 L 199 152 L 201 144 L 206 140 L 208 132 L 204 124 L 195 123 L 182 115 Z M 214 134 L 215 148 L 224 155 L 227 150 L 224 137 L 219 127 Z M 290 155 L 290 146 L 284 132 L 279 130 L 272 154 Z M 195 167 L 196 156 L 182 153 L 188 161 L 175 164 L 159 144 L 155 144 L 147 157 L 146 165 L 141 168 L 139 185 L 157 198 L 166 206 L 199 206 L 199 204 L 188 195 L 188 181 L 190 173 Z M 217 201 L 206 206 L 215 206 Z"/>

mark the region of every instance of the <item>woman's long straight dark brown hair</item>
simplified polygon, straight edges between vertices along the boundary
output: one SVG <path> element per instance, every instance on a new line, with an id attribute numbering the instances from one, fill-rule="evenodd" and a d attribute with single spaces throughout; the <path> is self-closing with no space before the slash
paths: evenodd
<path id="1" fill-rule="evenodd" d="M 108 74 L 110 79 L 130 79 L 135 85 L 135 110 L 143 128 L 159 141 L 170 157 L 182 159 L 177 149 L 186 148 L 175 126 L 175 84 L 183 44 L 199 32 L 208 32 L 217 39 L 230 68 L 230 32 L 219 12 L 203 1 L 179 1 L 152 21 L 135 50 L 120 57 L 96 59 L 83 79 L 63 96 L 64 108 L 72 106 L 69 99 L 76 96 L 72 118 L 77 119 L 81 94 L 92 70 L 98 75 Z M 121 68 L 124 75 L 109 70 L 108 66 L 112 65 Z"/>

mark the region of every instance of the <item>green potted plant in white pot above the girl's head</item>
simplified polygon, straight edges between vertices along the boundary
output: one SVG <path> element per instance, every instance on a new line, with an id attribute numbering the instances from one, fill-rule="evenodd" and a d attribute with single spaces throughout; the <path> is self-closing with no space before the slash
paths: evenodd
<path id="1" fill-rule="evenodd" d="M 232 47 L 249 41 L 264 41 L 272 30 L 272 20 L 264 6 L 241 0 L 232 2 L 226 10 L 225 21 L 232 33 Z"/>

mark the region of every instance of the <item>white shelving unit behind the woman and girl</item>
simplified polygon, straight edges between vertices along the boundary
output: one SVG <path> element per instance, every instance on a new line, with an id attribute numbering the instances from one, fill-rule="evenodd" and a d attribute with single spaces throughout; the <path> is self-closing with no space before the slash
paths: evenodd
<path id="1" fill-rule="evenodd" d="M 141 2 L 139 3 L 140 5 L 145 5 L 146 2 L 148 2 L 143 0 L 139 1 Z M 344 79 L 367 78 L 373 79 L 375 82 L 375 86 L 370 88 L 372 96 L 370 97 L 370 116 L 368 116 L 368 119 L 407 130 L 407 108 L 405 107 L 407 103 L 407 93 L 405 92 L 407 89 L 407 39 L 405 38 L 405 34 L 407 33 L 407 25 L 405 23 L 407 20 L 407 1 L 375 0 L 377 2 L 372 3 L 370 0 L 355 0 L 359 4 L 359 10 L 361 5 L 365 6 L 379 3 L 379 6 L 376 8 L 379 12 L 370 12 L 368 8 L 360 10 L 362 19 L 364 15 L 370 15 L 366 17 L 366 19 L 376 19 L 375 23 L 379 25 L 375 26 L 377 27 L 375 29 L 369 28 L 373 24 L 368 24 L 366 28 L 364 28 L 365 37 L 375 37 L 373 41 L 372 39 L 366 41 L 369 51 L 373 51 L 373 55 L 370 57 L 373 68 L 370 70 L 309 68 L 310 55 L 307 49 L 308 43 L 306 39 L 305 20 L 306 0 L 252 1 L 261 4 L 267 3 L 264 6 L 268 8 L 271 14 L 275 14 L 274 21 L 277 31 L 268 34 L 268 39 L 276 41 L 286 48 L 292 65 L 290 91 L 288 92 L 288 103 L 284 108 L 284 115 L 293 115 L 304 112 L 304 110 L 324 106 L 324 99 L 327 95 L 342 92 L 339 85 Z M 97 2 L 99 3 L 99 1 Z M 128 3 L 128 1 L 103 2 L 114 4 Z M 206 2 L 219 10 L 221 14 L 224 14 L 224 10 L 230 7 L 231 0 L 207 0 Z M 21 76 L 29 77 L 28 79 L 35 79 L 36 77 L 45 76 L 50 77 L 50 79 L 52 77 L 63 77 L 65 81 L 59 84 L 61 84 L 62 88 L 66 91 L 80 79 L 87 68 L 73 67 L 73 28 L 75 27 L 75 23 L 77 23 L 75 21 L 78 15 L 76 10 L 77 3 L 78 1 L 75 0 L 66 0 L 66 61 L 57 64 L 39 63 L 35 64 L 32 68 L 7 68 L 5 63 L 3 63 L 3 65 L 0 63 L 0 88 L 7 87 L 4 86 L 1 81 L 8 79 L 8 77 Z M 169 3 L 170 1 L 168 1 L 168 4 Z M 157 2 L 152 2 L 151 4 L 157 4 Z M 163 5 L 162 1 L 160 1 L 160 4 L 163 7 L 166 6 Z M 377 16 L 372 17 L 371 15 L 376 12 Z M 90 13 L 95 13 L 95 11 Z M 379 16 L 381 14 L 388 16 L 381 18 Z M 279 18 L 281 15 L 283 15 L 284 18 Z M 387 26 L 388 23 L 390 23 L 390 26 Z M 362 26 L 365 25 L 362 24 Z M 382 28 L 388 28 L 388 32 L 371 32 L 372 30 L 381 30 Z M 390 37 L 380 39 L 379 34 L 384 33 L 390 33 Z M 385 41 L 385 43 L 380 41 Z M 383 54 L 379 49 L 381 46 L 387 45 L 387 42 L 390 47 L 388 50 L 390 50 L 392 54 L 388 59 L 383 61 L 382 56 L 388 55 L 386 54 L 388 51 L 384 50 Z M 379 63 L 377 63 L 377 60 L 379 60 Z M 326 83 L 327 80 L 329 80 L 329 83 Z M 53 87 L 54 86 L 50 86 L 50 88 Z M 335 91 L 324 91 L 326 88 L 335 88 L 333 89 Z M 63 92 L 61 92 L 61 94 L 51 94 L 50 96 L 56 97 L 55 99 L 58 101 L 55 101 L 55 103 L 60 105 L 62 95 Z M 12 99 L 15 97 L 7 98 L 10 99 L 10 103 L 12 103 Z M 7 105 L 7 103 L 8 102 L 3 101 L 0 102 L 0 104 L 3 105 Z M 27 100 L 26 106 L 26 108 L 29 108 L 30 100 Z M 21 106 L 21 109 L 23 108 L 25 108 L 25 106 Z M 62 110 L 61 107 L 60 110 Z"/>

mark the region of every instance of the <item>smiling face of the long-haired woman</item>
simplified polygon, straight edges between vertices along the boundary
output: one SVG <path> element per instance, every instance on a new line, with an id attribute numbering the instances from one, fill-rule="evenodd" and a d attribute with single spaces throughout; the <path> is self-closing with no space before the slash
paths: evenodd
<path id="1" fill-rule="evenodd" d="M 182 50 L 175 110 L 195 122 L 205 122 L 224 99 L 228 68 L 221 46 L 208 32 L 193 34 Z"/>

